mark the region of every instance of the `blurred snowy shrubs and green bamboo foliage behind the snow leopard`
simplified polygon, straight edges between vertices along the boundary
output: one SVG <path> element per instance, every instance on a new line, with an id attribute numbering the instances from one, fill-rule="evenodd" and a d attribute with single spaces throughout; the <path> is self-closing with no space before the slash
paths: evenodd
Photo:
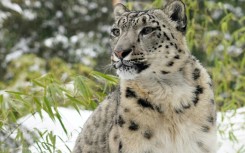
<path id="1" fill-rule="evenodd" d="M 183 1 L 188 46 L 212 76 L 218 110 L 244 107 L 245 0 Z M 134 10 L 166 3 L 0 1 L 0 152 L 30 145 L 17 123 L 21 117 L 45 111 L 60 118 L 58 107 L 93 110 L 115 88 L 109 31 L 117 2 Z"/>

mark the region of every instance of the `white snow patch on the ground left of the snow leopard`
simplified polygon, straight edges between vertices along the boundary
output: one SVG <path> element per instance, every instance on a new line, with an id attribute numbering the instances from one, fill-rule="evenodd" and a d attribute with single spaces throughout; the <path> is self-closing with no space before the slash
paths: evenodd
<path id="1" fill-rule="evenodd" d="M 83 110 L 80 111 L 79 115 L 77 111 L 69 108 L 58 108 L 58 111 L 61 115 L 62 122 L 64 123 L 68 134 L 64 132 L 58 119 L 55 119 L 53 121 L 52 119 L 50 119 L 45 111 L 42 111 L 43 118 L 41 118 L 38 114 L 35 114 L 33 116 L 27 115 L 19 119 L 18 123 L 22 124 L 25 127 L 28 127 L 28 129 L 30 130 L 38 129 L 42 132 L 52 131 L 52 133 L 57 136 L 57 149 L 60 149 L 62 153 L 69 153 L 70 151 L 66 148 L 65 145 L 67 145 L 70 149 L 73 148 L 76 138 L 81 131 L 82 125 L 85 123 L 92 112 Z M 30 150 L 33 153 L 38 152 L 37 148 L 37 145 L 34 144 L 30 147 Z"/>

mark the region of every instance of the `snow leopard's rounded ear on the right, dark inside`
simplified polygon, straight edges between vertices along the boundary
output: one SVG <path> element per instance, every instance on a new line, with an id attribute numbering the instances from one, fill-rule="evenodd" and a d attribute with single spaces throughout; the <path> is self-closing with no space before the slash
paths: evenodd
<path id="1" fill-rule="evenodd" d="M 181 0 L 170 1 L 165 6 L 164 12 L 171 20 L 177 22 L 176 29 L 185 34 L 187 27 L 185 4 Z"/>

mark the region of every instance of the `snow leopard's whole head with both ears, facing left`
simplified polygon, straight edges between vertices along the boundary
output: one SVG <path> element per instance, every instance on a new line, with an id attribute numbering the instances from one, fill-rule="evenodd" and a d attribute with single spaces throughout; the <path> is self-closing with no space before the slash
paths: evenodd
<path id="1" fill-rule="evenodd" d="M 129 11 L 122 5 L 114 9 L 111 29 L 111 60 L 122 79 L 134 79 L 161 69 L 163 73 L 180 67 L 187 47 L 185 6 L 174 1 L 165 9 Z"/>

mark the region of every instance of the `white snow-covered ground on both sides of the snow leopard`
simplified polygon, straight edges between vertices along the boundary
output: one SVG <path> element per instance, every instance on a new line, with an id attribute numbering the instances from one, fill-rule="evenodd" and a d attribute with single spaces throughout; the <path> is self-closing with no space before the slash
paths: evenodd
<path id="1" fill-rule="evenodd" d="M 80 111 L 80 114 L 73 109 L 59 108 L 62 121 L 67 129 L 67 134 L 63 130 L 58 120 L 51 120 L 46 112 L 42 112 L 43 119 L 38 114 L 28 115 L 21 118 L 18 123 L 30 130 L 38 129 L 52 132 L 56 136 L 56 148 L 62 153 L 69 153 L 72 150 L 76 137 L 82 125 L 92 113 L 91 111 Z M 245 107 L 236 111 L 218 113 L 218 153 L 244 153 L 245 152 Z M 233 133 L 231 131 L 234 131 Z M 45 139 L 45 136 L 44 136 Z M 230 140 L 232 139 L 232 141 Z M 69 148 L 69 149 L 68 149 Z M 37 145 L 31 148 L 33 153 L 40 152 Z"/>

